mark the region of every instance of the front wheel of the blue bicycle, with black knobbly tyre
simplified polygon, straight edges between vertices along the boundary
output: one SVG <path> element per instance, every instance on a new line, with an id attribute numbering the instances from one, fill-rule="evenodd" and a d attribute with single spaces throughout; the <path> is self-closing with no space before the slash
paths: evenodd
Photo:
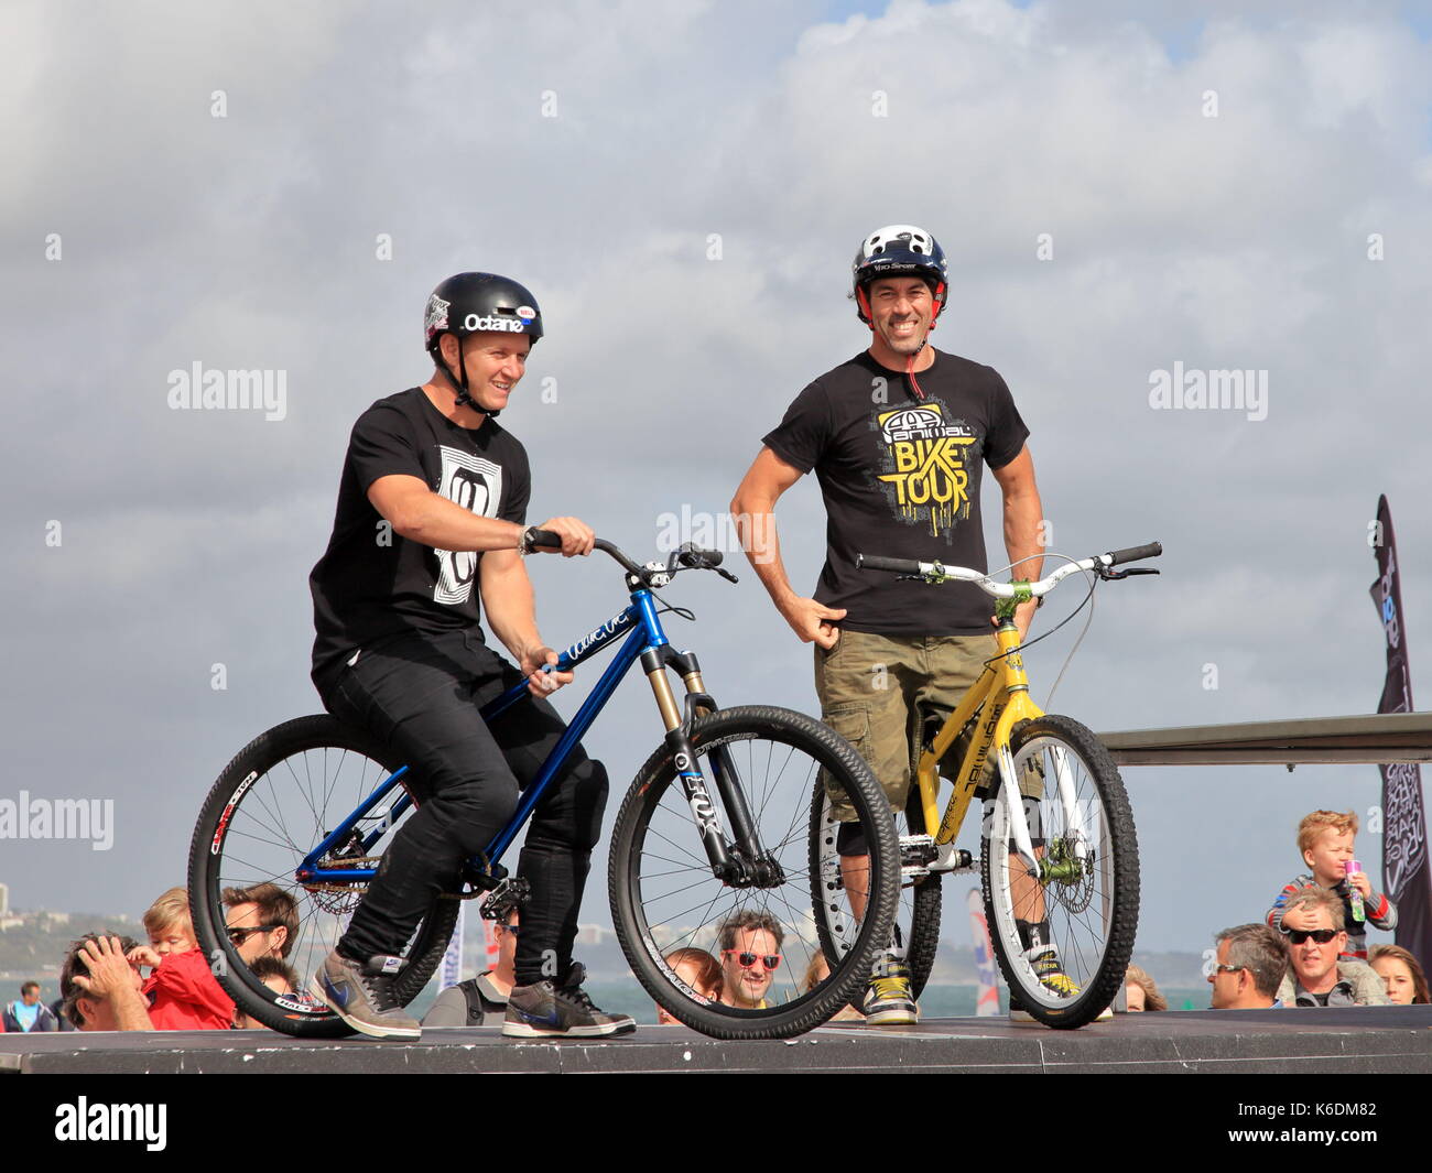
<path id="1" fill-rule="evenodd" d="M 692 748 L 732 856 L 732 812 L 717 773 L 739 785 L 762 854 L 753 879 L 719 879 L 676 763 L 659 749 L 633 781 L 611 832 L 610 892 L 617 937 L 637 980 L 672 1015 L 715 1038 L 789 1038 L 855 998 L 889 941 L 899 855 L 889 803 L 851 745 L 789 709 L 722 709 L 693 722 Z M 843 889 L 823 891 L 811 845 L 811 793 L 829 771 L 851 796 L 871 846 L 856 917 Z M 815 905 L 856 925 L 851 947 L 821 945 Z M 775 962 L 772 967 L 770 962 Z M 693 972 L 712 981 L 689 978 Z"/>

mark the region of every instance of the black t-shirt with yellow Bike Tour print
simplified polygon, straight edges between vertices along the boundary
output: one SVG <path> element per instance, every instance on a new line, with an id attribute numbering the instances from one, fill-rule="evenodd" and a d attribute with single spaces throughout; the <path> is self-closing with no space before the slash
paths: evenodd
<path id="1" fill-rule="evenodd" d="M 855 567 L 861 553 L 988 569 L 982 465 L 1014 460 L 1030 430 L 991 367 L 935 351 L 931 368 L 915 378 L 924 400 L 902 371 L 862 351 L 806 387 L 763 443 L 802 473 L 815 468 L 826 511 L 815 599 L 846 609 L 842 627 L 988 634 L 992 602 L 978 589 L 929 587 Z"/>

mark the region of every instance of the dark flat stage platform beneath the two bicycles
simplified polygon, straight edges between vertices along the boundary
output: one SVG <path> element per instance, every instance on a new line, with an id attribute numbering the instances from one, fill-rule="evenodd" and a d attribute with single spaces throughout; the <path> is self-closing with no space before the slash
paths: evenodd
<path id="1" fill-rule="evenodd" d="M 1005 1018 L 918 1027 L 841 1023 L 775 1043 L 684 1027 L 614 1040 L 521 1043 L 498 1027 L 428 1030 L 418 1043 L 299 1041 L 272 1031 L 0 1034 L 0 1073 L 1432 1073 L 1432 1007 L 1121 1014 L 1077 1031 Z"/>

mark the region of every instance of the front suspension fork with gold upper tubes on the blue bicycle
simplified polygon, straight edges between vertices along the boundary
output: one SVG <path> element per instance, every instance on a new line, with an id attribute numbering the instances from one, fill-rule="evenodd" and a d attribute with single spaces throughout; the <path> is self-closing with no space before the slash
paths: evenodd
<path id="1" fill-rule="evenodd" d="M 706 789 L 696 750 L 692 748 L 692 722 L 703 713 L 716 710 L 716 700 L 706 692 L 700 665 L 695 652 L 674 652 L 670 645 L 653 647 L 642 656 L 642 667 L 652 685 L 656 708 L 666 726 L 666 745 L 672 750 L 676 776 L 690 806 L 692 819 L 700 832 L 702 846 L 712 865 L 712 875 L 732 888 L 775 888 L 785 882 L 780 865 L 766 852 L 746 803 L 746 792 L 740 785 L 730 755 L 723 746 L 710 753 L 712 773 L 716 776 L 716 795 L 720 809 L 730 821 L 733 839 L 727 841 L 722 826 L 720 809 Z M 666 669 L 673 667 L 686 685 L 684 713 L 676 703 L 670 677 Z"/>

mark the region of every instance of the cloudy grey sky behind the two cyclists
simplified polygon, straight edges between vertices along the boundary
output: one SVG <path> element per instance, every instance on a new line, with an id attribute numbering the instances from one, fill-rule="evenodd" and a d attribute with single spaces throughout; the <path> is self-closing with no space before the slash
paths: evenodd
<path id="1" fill-rule="evenodd" d="M 137 915 L 183 881 L 229 756 L 318 709 L 306 574 L 348 430 L 427 377 L 422 305 L 461 269 L 517 276 L 548 324 L 503 418 L 536 520 L 650 554 L 865 345 L 858 241 L 924 225 L 951 258 L 934 341 L 1014 391 L 1051 549 L 1167 550 L 1100 592 L 1054 709 L 1372 710 L 1379 493 L 1426 708 L 1432 6 L 1242 7 L 7 3 L 0 799 L 116 811 L 109 852 L 0 842 L 11 904 Z M 282 371 L 282 411 L 172 408 L 195 362 Z M 1154 410 L 1174 364 L 1266 372 L 1266 418 Z M 809 589 L 815 484 L 778 517 Z M 551 642 L 623 603 L 596 560 L 536 579 Z M 815 708 L 755 576 L 672 594 L 717 696 Z M 1037 700 L 1077 627 L 1031 653 Z M 659 733 L 633 683 L 589 749 L 620 791 Z M 1254 918 L 1302 869 L 1300 815 L 1380 792 L 1372 766 L 1126 779 L 1154 950 Z M 1378 838 L 1359 851 L 1376 872 Z"/>

